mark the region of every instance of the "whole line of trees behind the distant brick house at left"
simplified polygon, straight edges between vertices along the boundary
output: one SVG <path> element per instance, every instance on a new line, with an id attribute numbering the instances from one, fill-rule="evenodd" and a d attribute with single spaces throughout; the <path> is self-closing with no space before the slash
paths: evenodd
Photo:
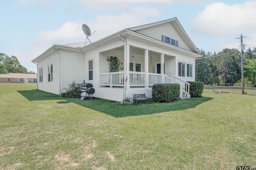
<path id="1" fill-rule="evenodd" d="M 28 71 L 27 68 L 22 66 L 18 61 L 17 57 L 5 55 L 4 53 L 0 53 L 0 74 L 8 74 L 8 73 L 26 73 L 26 74 L 34 74 L 34 71 Z"/>

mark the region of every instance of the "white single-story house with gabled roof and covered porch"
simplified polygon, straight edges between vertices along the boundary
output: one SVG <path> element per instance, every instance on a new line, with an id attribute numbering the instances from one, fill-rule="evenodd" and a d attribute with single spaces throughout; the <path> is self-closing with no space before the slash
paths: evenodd
<path id="1" fill-rule="evenodd" d="M 81 30 L 82 31 L 82 30 Z M 110 72 L 110 56 L 119 70 Z M 178 83 L 190 97 L 195 59 L 201 57 L 177 18 L 124 29 L 94 43 L 53 45 L 32 60 L 38 89 L 61 94 L 73 81 L 91 83 L 94 97 L 121 101 L 133 94 L 152 96 L 156 83 Z"/>

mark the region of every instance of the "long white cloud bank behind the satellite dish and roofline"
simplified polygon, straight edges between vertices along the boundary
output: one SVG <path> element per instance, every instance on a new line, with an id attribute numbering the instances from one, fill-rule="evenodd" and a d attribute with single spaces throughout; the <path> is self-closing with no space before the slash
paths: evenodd
<path id="1" fill-rule="evenodd" d="M 31 60 L 38 57 L 52 45 L 85 41 L 86 35 L 82 30 L 83 23 L 90 27 L 91 33 L 96 31 L 89 37 L 90 41 L 95 42 L 123 29 L 146 24 L 148 21 L 143 16 L 138 17 L 129 14 L 120 16 L 100 15 L 94 20 L 68 21 L 58 29 L 42 31 L 32 45 L 24 47 L 24 49 L 29 50 L 26 50 L 26 52 L 14 52 L 12 55 L 19 56 L 20 63 L 28 70 L 36 71 L 36 64 L 31 63 Z"/>

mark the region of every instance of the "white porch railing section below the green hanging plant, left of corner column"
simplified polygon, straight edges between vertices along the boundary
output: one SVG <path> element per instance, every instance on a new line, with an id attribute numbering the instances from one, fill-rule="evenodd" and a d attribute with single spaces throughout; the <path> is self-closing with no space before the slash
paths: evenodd
<path id="1" fill-rule="evenodd" d="M 100 73 L 100 86 L 124 86 L 124 72 Z"/>

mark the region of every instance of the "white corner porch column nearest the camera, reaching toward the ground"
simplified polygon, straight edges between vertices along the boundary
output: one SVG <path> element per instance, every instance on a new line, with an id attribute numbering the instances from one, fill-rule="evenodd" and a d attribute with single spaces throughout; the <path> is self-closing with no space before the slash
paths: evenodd
<path id="1" fill-rule="evenodd" d="M 124 43 L 124 98 L 126 89 L 130 88 L 130 45 Z"/>

